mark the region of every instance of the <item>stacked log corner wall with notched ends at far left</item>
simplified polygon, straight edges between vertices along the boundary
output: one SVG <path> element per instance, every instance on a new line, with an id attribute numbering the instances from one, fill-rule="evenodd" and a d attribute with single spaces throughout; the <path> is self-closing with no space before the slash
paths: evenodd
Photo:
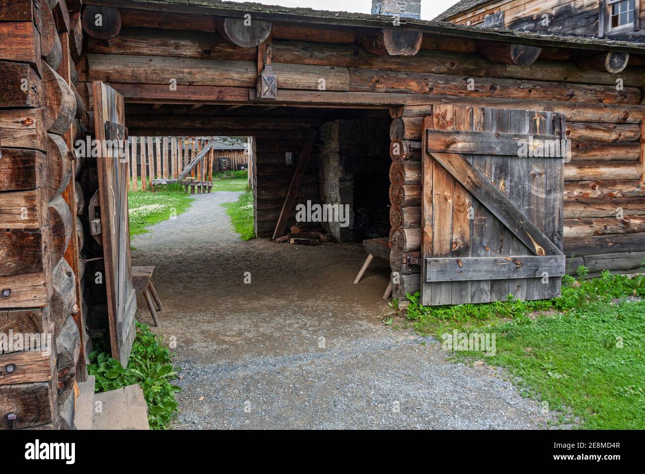
<path id="1" fill-rule="evenodd" d="M 0 333 L 41 335 L 0 349 L 0 428 L 73 428 L 72 389 L 86 375 L 71 151 L 79 3 L 0 6 Z"/>

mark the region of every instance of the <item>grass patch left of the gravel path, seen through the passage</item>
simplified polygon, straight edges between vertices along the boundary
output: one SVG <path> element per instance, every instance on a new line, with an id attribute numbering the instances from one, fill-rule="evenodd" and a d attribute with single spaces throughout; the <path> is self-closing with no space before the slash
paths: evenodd
<path id="1" fill-rule="evenodd" d="M 166 221 L 190 208 L 194 201 L 184 193 L 181 186 L 168 186 L 158 192 L 131 191 L 128 193 L 130 207 L 130 237 L 148 232 L 147 226 Z"/>

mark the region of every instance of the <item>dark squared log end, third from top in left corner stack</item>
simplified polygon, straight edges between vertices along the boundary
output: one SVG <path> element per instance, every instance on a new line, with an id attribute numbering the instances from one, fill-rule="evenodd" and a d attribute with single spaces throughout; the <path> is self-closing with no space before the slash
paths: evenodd
<path id="1" fill-rule="evenodd" d="M 0 61 L 0 107 L 41 106 L 41 81 L 26 63 Z"/>

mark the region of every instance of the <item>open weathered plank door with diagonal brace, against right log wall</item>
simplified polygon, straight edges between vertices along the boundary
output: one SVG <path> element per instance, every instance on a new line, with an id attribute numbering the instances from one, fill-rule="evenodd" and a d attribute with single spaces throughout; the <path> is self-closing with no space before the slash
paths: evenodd
<path id="1" fill-rule="evenodd" d="M 422 304 L 559 296 L 564 116 L 441 104 L 423 128 Z"/>

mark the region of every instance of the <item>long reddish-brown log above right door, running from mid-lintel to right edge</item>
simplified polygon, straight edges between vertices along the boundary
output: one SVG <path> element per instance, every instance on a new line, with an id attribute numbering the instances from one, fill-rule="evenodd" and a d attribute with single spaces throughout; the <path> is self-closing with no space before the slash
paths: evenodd
<path id="1" fill-rule="evenodd" d="M 458 95 L 460 97 L 499 97 L 591 103 L 639 104 L 640 90 L 599 84 L 571 84 L 530 79 L 478 77 L 468 90 L 468 77 L 450 74 L 424 74 L 349 68 L 350 88 L 355 92 L 407 92 L 408 94 Z"/>

